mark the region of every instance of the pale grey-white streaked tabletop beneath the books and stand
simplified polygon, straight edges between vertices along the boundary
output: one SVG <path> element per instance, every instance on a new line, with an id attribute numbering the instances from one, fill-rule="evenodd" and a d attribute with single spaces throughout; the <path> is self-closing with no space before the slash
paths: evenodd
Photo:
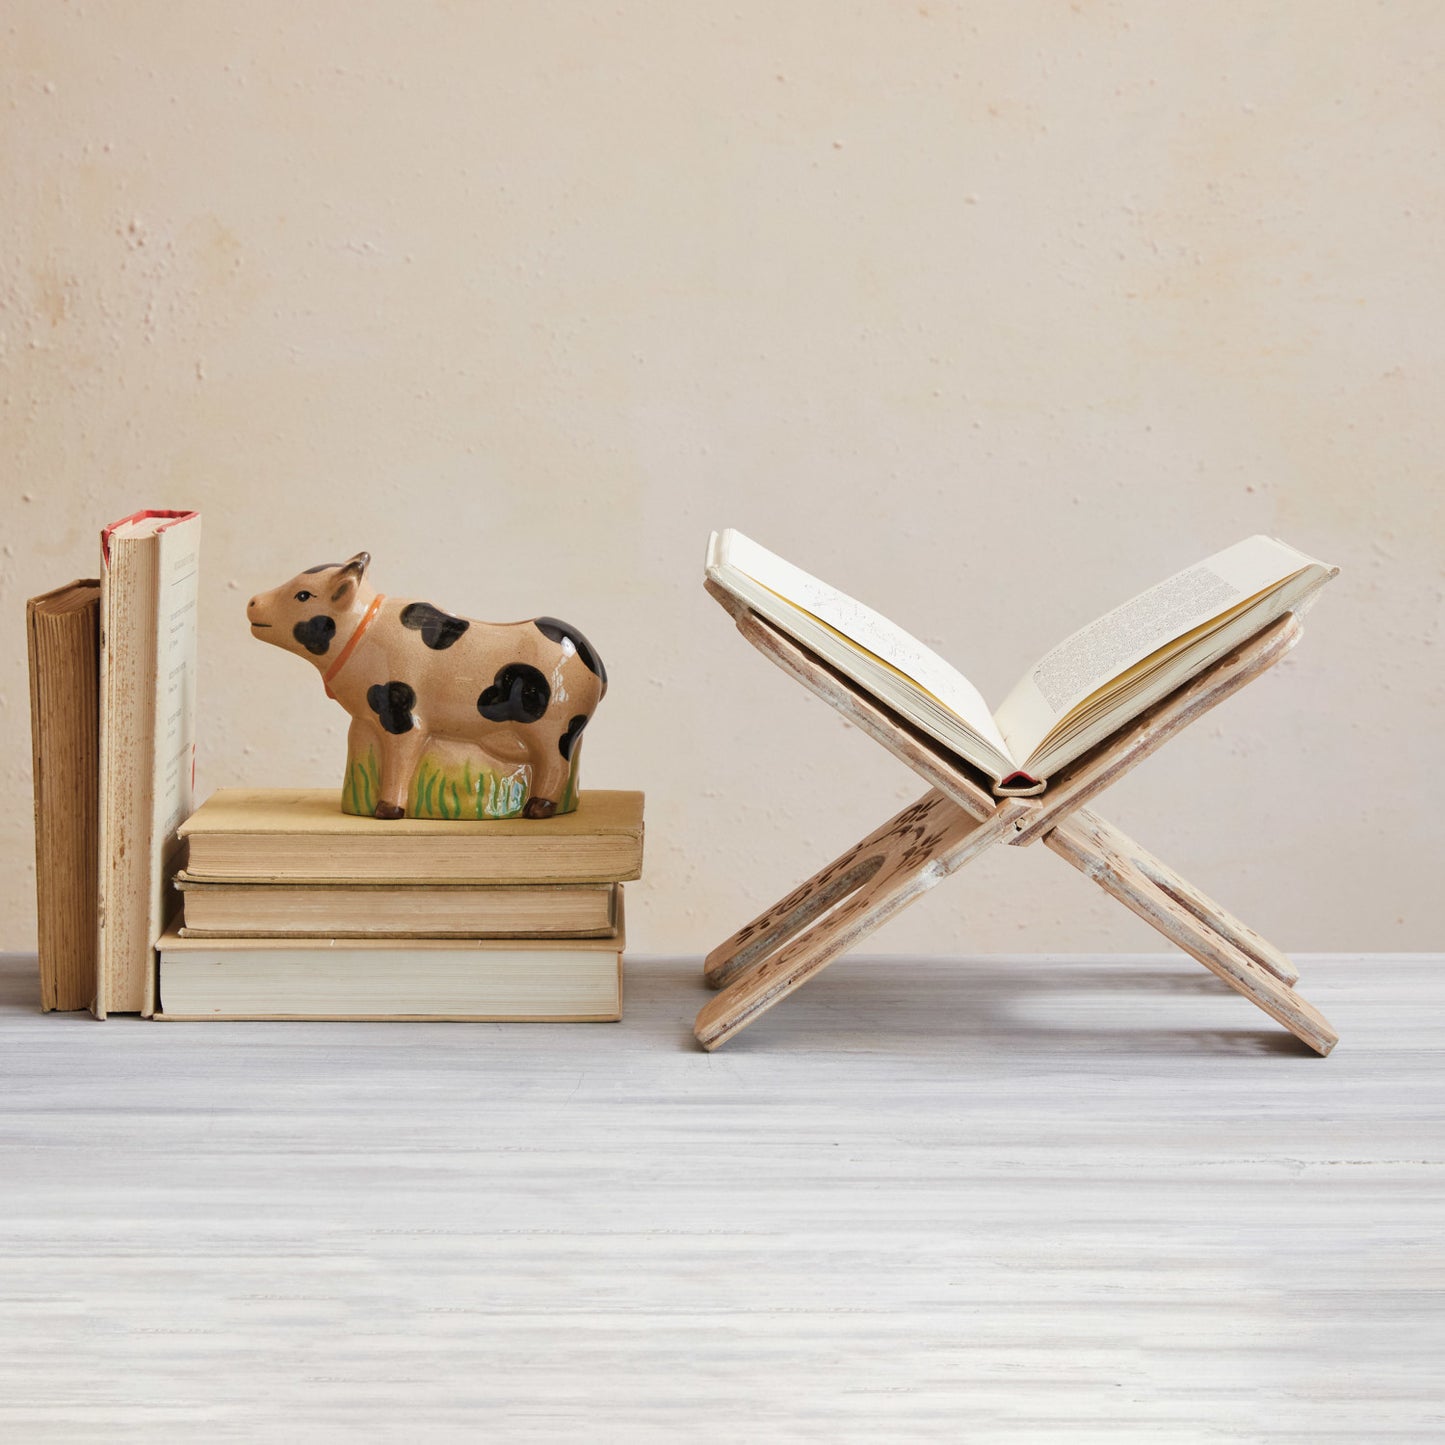
<path id="1" fill-rule="evenodd" d="M 1445 959 L 844 959 L 722 1053 L 40 1016 L 0 1439 L 1445 1438 Z"/>

